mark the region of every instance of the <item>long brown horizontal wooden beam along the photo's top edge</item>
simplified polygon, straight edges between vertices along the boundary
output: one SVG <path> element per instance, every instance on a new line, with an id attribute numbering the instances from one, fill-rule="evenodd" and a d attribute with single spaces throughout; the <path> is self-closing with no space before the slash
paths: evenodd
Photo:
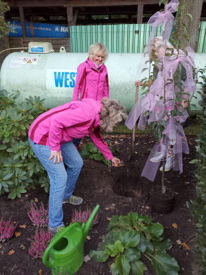
<path id="1" fill-rule="evenodd" d="M 206 0 L 203 0 L 206 2 Z M 94 7 L 105 5 L 149 5 L 158 4 L 159 0 L 10 0 L 8 5 L 10 8 L 14 7 Z"/>

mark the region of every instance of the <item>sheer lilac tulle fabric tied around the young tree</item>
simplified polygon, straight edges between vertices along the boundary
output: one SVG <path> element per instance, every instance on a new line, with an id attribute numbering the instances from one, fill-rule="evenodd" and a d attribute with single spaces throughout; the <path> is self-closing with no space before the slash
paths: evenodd
<path id="1" fill-rule="evenodd" d="M 159 25 L 162 25 L 162 46 L 166 49 L 166 45 L 170 38 L 170 32 L 172 30 L 172 25 L 174 22 L 174 16 L 172 15 L 172 12 L 176 12 L 176 8 L 178 5 L 178 0 L 170 1 L 168 5 L 165 5 L 165 10 L 163 12 L 156 12 L 148 21 L 148 23 L 152 27 L 152 30 L 150 32 L 148 43 L 145 47 L 142 61 L 140 63 L 141 69 L 143 68 L 143 66 L 144 70 L 147 66 L 148 69 L 150 69 L 150 63 L 148 62 L 148 60 L 151 56 L 152 45 L 154 44 L 155 34 Z M 180 124 L 187 119 L 187 111 L 182 111 L 179 115 L 176 115 L 176 117 L 171 116 L 172 110 L 174 110 L 174 108 L 179 110 L 181 106 L 181 102 L 175 101 L 175 93 L 179 91 L 179 88 L 175 87 L 174 89 L 173 78 L 176 69 L 178 69 L 179 63 L 181 63 L 181 65 L 185 68 L 186 72 L 186 80 L 184 81 L 184 83 L 182 83 L 182 88 L 184 89 L 186 94 L 183 94 L 182 98 L 190 100 L 196 89 L 193 76 L 193 69 L 195 68 L 194 51 L 190 47 L 187 47 L 185 50 L 187 51 L 187 54 L 185 54 L 185 52 L 182 50 L 177 51 L 176 49 L 174 49 L 172 56 L 163 55 L 159 57 L 159 62 L 157 63 L 157 66 L 159 67 L 159 72 L 157 74 L 157 78 L 150 86 L 150 91 L 148 92 L 148 94 L 146 96 L 143 96 L 135 104 L 125 122 L 128 129 L 133 129 L 133 126 L 139 119 L 137 128 L 143 131 L 147 123 L 150 124 L 150 122 L 161 122 L 161 124 L 165 126 L 165 130 L 163 131 L 163 142 L 166 145 L 166 148 L 168 148 L 168 143 L 172 138 L 174 138 L 175 140 L 174 160 L 176 164 L 173 169 L 179 170 L 180 173 L 183 170 L 182 153 L 189 153 L 189 149 L 187 146 L 187 140 L 185 138 L 183 127 Z M 166 83 L 168 84 L 165 85 Z M 163 98 L 164 90 L 165 102 Z M 157 144 L 155 144 L 155 146 L 152 148 L 152 153 L 150 153 L 148 161 L 146 162 L 146 166 L 141 173 L 141 176 L 147 177 L 151 181 L 154 181 L 155 179 L 159 163 L 150 162 L 150 158 L 154 156 L 155 152 L 159 151 L 160 142 L 157 142 Z M 167 150 L 165 152 L 165 157 L 166 153 Z"/>

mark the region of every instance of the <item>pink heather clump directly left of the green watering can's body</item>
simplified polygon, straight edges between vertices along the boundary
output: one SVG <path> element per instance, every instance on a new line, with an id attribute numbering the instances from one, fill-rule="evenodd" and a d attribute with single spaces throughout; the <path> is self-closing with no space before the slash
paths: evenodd
<path id="1" fill-rule="evenodd" d="M 32 239 L 27 239 L 28 241 L 31 241 L 31 248 L 29 250 L 30 255 L 32 255 L 34 259 L 42 258 L 45 249 L 49 245 L 52 238 L 53 235 L 49 232 L 49 230 L 46 232 L 43 230 L 36 230 L 36 233 Z"/>

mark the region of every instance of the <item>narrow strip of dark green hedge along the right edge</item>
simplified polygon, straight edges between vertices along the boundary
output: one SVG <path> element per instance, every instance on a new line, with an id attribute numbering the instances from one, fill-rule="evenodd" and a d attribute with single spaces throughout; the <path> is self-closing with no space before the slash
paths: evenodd
<path id="1" fill-rule="evenodd" d="M 204 73 L 205 71 L 203 71 Z M 201 76 L 202 100 L 199 102 L 203 107 L 203 114 L 199 115 L 199 120 L 203 131 L 196 140 L 196 159 L 191 163 L 196 164 L 196 194 L 197 197 L 192 203 L 188 203 L 196 223 L 196 252 L 199 259 L 199 271 L 206 274 L 206 77 Z"/>

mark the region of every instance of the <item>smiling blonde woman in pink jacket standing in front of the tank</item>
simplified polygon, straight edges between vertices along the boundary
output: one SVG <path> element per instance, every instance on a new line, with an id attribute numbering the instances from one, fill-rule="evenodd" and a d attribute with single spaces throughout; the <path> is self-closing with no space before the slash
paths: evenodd
<path id="1" fill-rule="evenodd" d="M 88 53 L 87 61 L 78 66 L 72 100 L 102 100 L 109 97 L 108 73 L 104 65 L 108 51 L 103 44 L 95 43 L 91 45 Z M 73 144 L 78 147 L 80 141 L 81 139 L 74 139 Z"/>

